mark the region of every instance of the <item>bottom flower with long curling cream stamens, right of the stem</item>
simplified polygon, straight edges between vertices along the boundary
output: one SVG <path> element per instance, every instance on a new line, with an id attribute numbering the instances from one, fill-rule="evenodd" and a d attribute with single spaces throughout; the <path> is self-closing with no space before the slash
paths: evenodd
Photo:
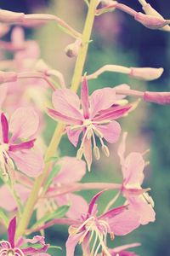
<path id="1" fill-rule="evenodd" d="M 66 241 L 66 256 L 73 256 L 77 244 L 82 243 L 83 255 L 98 255 L 101 250 L 104 255 L 111 256 L 106 245 L 107 234 L 124 236 L 139 227 L 139 215 L 126 206 L 111 209 L 97 216 L 95 202 L 103 191 L 94 195 L 88 206 L 88 211 L 78 220 L 72 220 L 69 237 Z"/>

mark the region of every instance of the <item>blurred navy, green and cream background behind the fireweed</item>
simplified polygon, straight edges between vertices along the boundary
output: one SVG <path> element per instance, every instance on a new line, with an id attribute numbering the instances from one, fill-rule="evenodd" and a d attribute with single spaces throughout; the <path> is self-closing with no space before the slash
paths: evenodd
<path id="1" fill-rule="evenodd" d="M 141 10 L 137 0 L 119 1 L 136 10 Z M 170 2 L 168 0 L 148 0 L 165 18 L 170 18 Z M 0 0 L 0 8 L 18 12 L 46 12 L 59 15 L 69 24 L 82 31 L 87 8 L 82 0 Z M 72 39 L 59 31 L 56 24 L 49 23 L 37 30 L 26 29 L 26 37 L 37 40 L 42 59 L 52 67 L 64 73 L 66 83 L 71 83 L 75 59 L 65 56 L 64 47 L 72 43 Z M 8 40 L 8 37 L 6 38 Z M 123 14 L 120 11 L 97 17 L 92 35 L 93 43 L 89 45 L 88 58 L 84 71 L 93 73 L 105 64 L 117 64 L 127 67 L 164 67 L 161 79 L 145 84 L 129 79 L 127 76 L 105 73 L 99 79 L 89 83 L 90 91 L 103 86 L 116 84 L 131 84 L 139 90 L 170 90 L 170 33 L 152 31 Z M 128 152 L 137 150 L 143 152 L 150 148 L 146 159 L 150 166 L 145 171 L 144 187 L 151 188 L 151 195 L 156 203 L 156 222 L 142 226 L 132 234 L 118 237 L 111 246 L 139 241 L 141 247 L 136 252 L 141 256 L 170 255 L 170 108 L 150 103 L 139 103 L 133 113 L 121 120 L 122 130 L 128 131 Z M 45 139 L 48 142 L 54 131 L 54 121 L 48 120 Z M 83 181 L 121 181 L 120 168 L 116 155 L 116 145 L 111 146 L 111 156 L 108 159 L 94 161 L 92 172 L 87 173 Z M 76 150 L 63 137 L 59 147 L 61 155 L 75 155 Z M 89 201 L 96 191 L 84 191 L 82 195 Z M 111 199 L 113 192 L 101 197 L 99 206 L 102 208 Z M 119 201 L 118 203 L 121 203 Z M 52 255 L 65 255 L 65 240 L 67 228 L 54 226 L 46 230 L 49 243 L 63 247 L 63 251 L 54 251 Z M 77 251 L 76 255 L 80 255 Z"/>

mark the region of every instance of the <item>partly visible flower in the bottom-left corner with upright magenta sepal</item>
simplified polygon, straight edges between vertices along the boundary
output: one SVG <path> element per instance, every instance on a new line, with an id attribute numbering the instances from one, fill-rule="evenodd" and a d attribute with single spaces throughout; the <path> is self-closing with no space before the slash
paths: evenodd
<path id="1" fill-rule="evenodd" d="M 16 232 L 16 218 L 14 217 L 8 225 L 8 241 L 0 241 L 0 255 L 1 256 L 31 256 L 42 255 L 50 256 L 46 251 L 48 250 L 48 244 L 45 244 L 43 236 L 34 236 L 32 239 L 20 238 L 16 243 L 14 236 Z M 30 247 L 27 243 L 32 244 Z M 34 247 L 34 245 L 40 245 L 40 248 Z"/>

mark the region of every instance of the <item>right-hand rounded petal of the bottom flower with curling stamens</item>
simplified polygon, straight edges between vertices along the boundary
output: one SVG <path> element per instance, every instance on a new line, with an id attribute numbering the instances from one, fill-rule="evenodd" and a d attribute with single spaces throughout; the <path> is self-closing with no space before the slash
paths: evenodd
<path id="1" fill-rule="evenodd" d="M 132 210 L 124 211 L 112 218 L 109 225 L 116 236 L 127 235 L 139 227 L 139 214 Z"/>

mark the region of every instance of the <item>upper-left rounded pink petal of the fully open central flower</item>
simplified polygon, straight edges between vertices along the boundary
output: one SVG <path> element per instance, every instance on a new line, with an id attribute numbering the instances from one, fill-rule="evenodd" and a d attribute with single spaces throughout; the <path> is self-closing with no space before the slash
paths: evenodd
<path id="1" fill-rule="evenodd" d="M 52 96 L 52 102 L 57 112 L 74 119 L 82 120 L 80 100 L 77 94 L 70 89 L 57 89 Z"/>

